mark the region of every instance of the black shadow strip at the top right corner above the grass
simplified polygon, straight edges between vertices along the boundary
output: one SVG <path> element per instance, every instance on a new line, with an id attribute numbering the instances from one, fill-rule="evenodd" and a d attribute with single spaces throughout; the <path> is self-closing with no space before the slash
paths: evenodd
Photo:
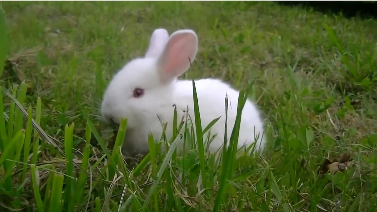
<path id="1" fill-rule="evenodd" d="M 343 17 L 370 19 L 377 17 L 377 1 L 275 1 L 279 5 L 313 8 L 325 14 L 342 14 Z"/>

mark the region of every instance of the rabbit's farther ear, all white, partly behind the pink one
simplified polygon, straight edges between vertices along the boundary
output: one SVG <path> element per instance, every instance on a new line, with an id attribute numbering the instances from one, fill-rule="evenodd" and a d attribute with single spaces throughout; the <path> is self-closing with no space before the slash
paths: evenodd
<path id="1" fill-rule="evenodd" d="M 166 29 L 155 29 L 150 37 L 149 48 L 145 57 L 158 57 L 164 50 L 168 40 L 169 33 Z"/>

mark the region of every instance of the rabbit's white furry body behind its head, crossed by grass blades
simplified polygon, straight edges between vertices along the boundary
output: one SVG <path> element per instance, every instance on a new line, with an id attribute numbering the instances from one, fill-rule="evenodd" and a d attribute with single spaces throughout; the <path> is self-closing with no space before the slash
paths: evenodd
<path id="1" fill-rule="evenodd" d="M 218 79 L 201 79 L 195 81 L 196 93 L 198 95 L 199 112 L 201 125 L 204 129 L 215 118 L 220 117 L 210 129 L 211 136 L 216 135 L 210 145 L 210 151 L 217 151 L 224 143 L 225 132 L 225 97 L 228 98 L 227 111 L 227 137 L 231 135 L 238 107 L 239 92 L 228 84 Z M 191 80 L 178 81 L 175 85 L 174 99 L 178 110 L 187 111 L 194 119 L 193 89 Z M 195 124 L 195 121 L 192 121 Z M 256 135 L 254 135 L 256 132 Z M 238 146 L 248 145 L 254 142 L 254 137 L 262 137 L 263 124 L 259 111 L 251 101 L 245 103 L 241 117 Z M 260 141 L 260 138 L 259 138 Z M 263 142 L 264 143 L 264 142 Z M 259 146 L 259 143 L 257 147 Z M 263 146 L 262 146 L 263 147 Z"/>

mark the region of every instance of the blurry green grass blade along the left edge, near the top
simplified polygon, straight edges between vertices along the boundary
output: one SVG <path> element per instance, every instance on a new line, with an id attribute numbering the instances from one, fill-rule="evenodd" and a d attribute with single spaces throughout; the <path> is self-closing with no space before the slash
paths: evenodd
<path id="1" fill-rule="evenodd" d="M 8 28 L 5 21 L 5 11 L 0 5 L 0 77 L 3 75 L 5 58 L 8 51 Z"/>

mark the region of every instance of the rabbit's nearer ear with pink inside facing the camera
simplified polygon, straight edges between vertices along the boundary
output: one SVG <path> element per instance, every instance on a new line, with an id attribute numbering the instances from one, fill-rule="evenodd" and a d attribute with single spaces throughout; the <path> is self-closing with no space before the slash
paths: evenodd
<path id="1" fill-rule="evenodd" d="M 198 37 L 190 29 L 175 31 L 158 58 L 158 71 L 162 81 L 173 80 L 183 74 L 194 61 L 198 51 Z"/>

